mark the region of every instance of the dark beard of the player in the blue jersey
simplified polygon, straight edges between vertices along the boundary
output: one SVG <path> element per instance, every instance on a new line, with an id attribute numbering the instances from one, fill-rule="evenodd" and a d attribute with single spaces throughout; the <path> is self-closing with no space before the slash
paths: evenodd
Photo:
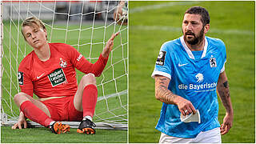
<path id="1" fill-rule="evenodd" d="M 183 32 L 183 34 L 184 34 L 184 32 Z M 187 42 L 190 45 L 196 45 L 196 44 L 202 42 L 203 34 L 204 34 L 204 27 L 202 27 L 202 30 L 200 31 L 198 36 L 196 36 L 192 31 L 186 31 L 186 33 L 184 34 L 184 40 L 185 40 L 185 42 Z M 194 38 L 187 39 L 186 38 L 187 35 L 193 35 Z"/>

